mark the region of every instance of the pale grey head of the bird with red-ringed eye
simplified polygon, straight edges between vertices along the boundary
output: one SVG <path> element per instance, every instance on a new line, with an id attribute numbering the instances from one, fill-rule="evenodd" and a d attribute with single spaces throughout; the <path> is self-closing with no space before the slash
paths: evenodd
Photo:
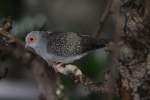
<path id="1" fill-rule="evenodd" d="M 32 31 L 25 38 L 25 47 L 35 49 L 39 43 L 41 42 L 41 32 L 40 31 Z"/>

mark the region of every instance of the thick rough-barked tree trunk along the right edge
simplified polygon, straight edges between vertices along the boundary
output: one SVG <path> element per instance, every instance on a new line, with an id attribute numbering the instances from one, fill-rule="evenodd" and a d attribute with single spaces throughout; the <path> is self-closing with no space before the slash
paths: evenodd
<path id="1" fill-rule="evenodd" d="M 121 100 L 150 100 L 150 1 L 113 0 L 112 5 L 119 95 Z"/>

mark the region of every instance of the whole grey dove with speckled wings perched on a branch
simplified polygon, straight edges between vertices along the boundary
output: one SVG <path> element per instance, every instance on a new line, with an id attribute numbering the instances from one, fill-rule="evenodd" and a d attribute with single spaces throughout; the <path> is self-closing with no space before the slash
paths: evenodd
<path id="1" fill-rule="evenodd" d="M 25 38 L 25 47 L 41 56 L 55 71 L 63 64 L 81 59 L 89 52 L 105 47 L 105 39 L 76 32 L 32 31 Z"/>

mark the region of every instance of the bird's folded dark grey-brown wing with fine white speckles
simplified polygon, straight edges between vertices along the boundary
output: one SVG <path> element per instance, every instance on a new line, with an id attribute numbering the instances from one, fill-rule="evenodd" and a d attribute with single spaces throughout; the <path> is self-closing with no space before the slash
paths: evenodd
<path id="1" fill-rule="evenodd" d="M 56 56 L 70 57 L 100 48 L 96 39 L 79 33 L 50 33 L 47 50 Z"/>

